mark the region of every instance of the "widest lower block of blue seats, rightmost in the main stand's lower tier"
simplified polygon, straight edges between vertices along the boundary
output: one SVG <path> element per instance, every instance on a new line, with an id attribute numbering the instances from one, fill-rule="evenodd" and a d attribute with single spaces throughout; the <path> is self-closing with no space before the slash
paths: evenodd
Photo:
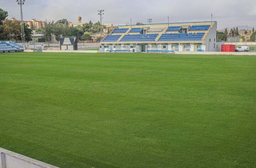
<path id="1" fill-rule="evenodd" d="M 205 33 L 164 33 L 158 41 L 201 41 Z"/>

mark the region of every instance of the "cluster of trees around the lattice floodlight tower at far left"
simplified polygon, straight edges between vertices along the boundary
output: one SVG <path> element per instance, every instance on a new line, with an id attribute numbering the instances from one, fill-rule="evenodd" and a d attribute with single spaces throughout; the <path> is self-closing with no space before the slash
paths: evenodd
<path id="1" fill-rule="evenodd" d="M 6 19 L 8 12 L 0 8 L 0 39 L 2 40 L 21 40 L 20 22 L 12 22 Z M 25 40 L 31 41 L 32 30 L 24 24 Z"/>

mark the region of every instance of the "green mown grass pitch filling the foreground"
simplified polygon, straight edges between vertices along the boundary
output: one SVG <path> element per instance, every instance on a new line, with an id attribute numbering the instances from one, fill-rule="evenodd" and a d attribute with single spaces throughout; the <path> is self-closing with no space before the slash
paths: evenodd
<path id="1" fill-rule="evenodd" d="M 65 168 L 256 167 L 256 56 L 0 54 L 0 147 Z"/>

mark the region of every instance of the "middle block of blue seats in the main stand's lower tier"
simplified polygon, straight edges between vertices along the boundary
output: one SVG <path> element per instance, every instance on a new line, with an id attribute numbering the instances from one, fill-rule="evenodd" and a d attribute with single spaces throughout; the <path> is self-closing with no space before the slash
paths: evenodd
<path id="1" fill-rule="evenodd" d="M 158 34 L 126 34 L 120 41 L 155 41 Z"/>

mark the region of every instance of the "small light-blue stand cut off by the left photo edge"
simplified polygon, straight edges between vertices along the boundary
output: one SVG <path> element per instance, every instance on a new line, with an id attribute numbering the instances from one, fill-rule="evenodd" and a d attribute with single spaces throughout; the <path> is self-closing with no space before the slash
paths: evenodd
<path id="1" fill-rule="evenodd" d="M 12 41 L 0 41 L 0 53 L 23 51 L 24 48 Z"/>

